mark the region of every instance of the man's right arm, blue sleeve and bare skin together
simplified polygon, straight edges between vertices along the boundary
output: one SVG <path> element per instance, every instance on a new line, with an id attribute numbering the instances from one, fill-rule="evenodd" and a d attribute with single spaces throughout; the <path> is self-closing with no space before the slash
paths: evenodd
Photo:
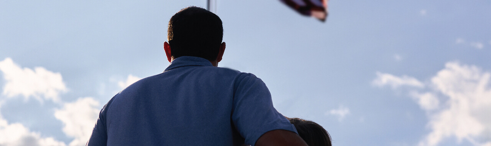
<path id="1" fill-rule="evenodd" d="M 295 127 L 273 107 L 266 84 L 253 74 L 244 74 L 237 84 L 232 120 L 246 145 L 307 146 Z"/>

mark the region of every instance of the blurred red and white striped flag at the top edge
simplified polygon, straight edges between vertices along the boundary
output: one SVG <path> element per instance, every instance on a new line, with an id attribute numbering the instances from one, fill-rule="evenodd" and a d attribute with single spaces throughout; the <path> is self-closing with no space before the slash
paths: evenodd
<path id="1" fill-rule="evenodd" d="M 305 16 L 312 16 L 322 22 L 327 18 L 328 0 L 280 0 Z"/>

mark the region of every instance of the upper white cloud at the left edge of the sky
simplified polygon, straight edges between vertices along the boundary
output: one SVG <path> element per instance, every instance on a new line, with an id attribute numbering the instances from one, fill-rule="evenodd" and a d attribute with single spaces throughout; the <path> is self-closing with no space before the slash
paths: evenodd
<path id="1" fill-rule="evenodd" d="M 34 97 L 39 101 L 44 98 L 56 102 L 59 101 L 58 95 L 67 91 L 60 73 L 42 67 L 35 67 L 34 70 L 21 68 L 12 59 L 5 58 L 0 61 L 0 71 L 6 81 L 3 87 L 3 95 L 6 97 Z"/>

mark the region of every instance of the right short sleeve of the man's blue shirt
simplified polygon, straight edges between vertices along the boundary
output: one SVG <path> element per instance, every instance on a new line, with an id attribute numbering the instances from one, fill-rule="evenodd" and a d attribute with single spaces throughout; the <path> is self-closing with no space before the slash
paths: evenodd
<path id="1" fill-rule="evenodd" d="M 293 124 L 273 107 L 270 91 L 261 79 L 241 73 L 234 88 L 232 121 L 246 145 L 254 146 L 259 137 L 271 130 L 297 133 Z"/>

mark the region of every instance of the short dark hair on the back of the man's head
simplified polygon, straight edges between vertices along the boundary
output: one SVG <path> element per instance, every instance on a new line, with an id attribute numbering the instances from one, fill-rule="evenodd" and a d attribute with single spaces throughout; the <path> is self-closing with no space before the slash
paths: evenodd
<path id="1" fill-rule="evenodd" d="M 190 6 L 170 18 L 167 40 L 174 58 L 195 56 L 214 61 L 223 38 L 220 18 L 212 12 Z"/>

